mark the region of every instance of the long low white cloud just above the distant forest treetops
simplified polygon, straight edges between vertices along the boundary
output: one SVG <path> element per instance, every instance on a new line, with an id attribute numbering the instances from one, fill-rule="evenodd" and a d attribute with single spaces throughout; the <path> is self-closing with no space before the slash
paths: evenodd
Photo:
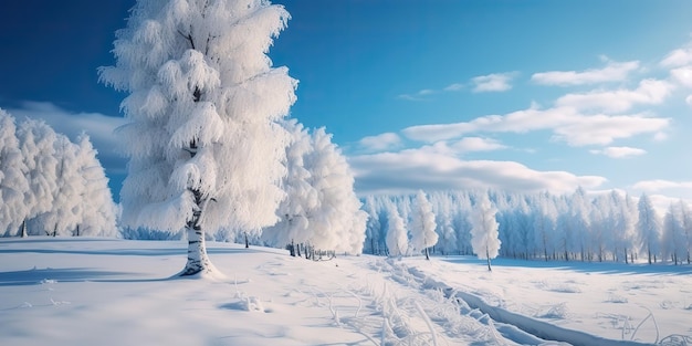
<path id="1" fill-rule="evenodd" d="M 423 190 L 499 189 L 517 192 L 572 192 L 606 179 L 567 171 L 538 171 L 515 161 L 462 160 L 434 146 L 349 158 L 360 195 Z"/>

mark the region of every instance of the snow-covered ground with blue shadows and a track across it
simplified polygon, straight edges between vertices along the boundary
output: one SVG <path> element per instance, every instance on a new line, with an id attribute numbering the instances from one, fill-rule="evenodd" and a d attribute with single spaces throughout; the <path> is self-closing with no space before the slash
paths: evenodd
<path id="1" fill-rule="evenodd" d="M 171 279 L 186 247 L 0 239 L 0 344 L 560 344 L 535 334 L 599 345 L 692 340 L 689 265 L 496 260 L 491 273 L 466 256 L 312 262 L 212 242 L 224 277 Z"/>

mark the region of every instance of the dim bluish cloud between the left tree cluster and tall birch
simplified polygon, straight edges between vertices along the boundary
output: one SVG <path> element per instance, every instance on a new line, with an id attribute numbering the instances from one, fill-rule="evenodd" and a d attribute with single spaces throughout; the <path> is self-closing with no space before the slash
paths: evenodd
<path id="1" fill-rule="evenodd" d="M 98 150 L 102 165 L 111 172 L 125 171 L 126 159 L 117 153 L 120 139 L 113 133 L 125 124 L 124 118 L 99 113 L 74 113 L 48 102 L 23 102 L 19 108 L 8 112 L 20 122 L 25 117 L 43 119 L 55 132 L 67 135 L 72 140 L 85 132 Z"/>

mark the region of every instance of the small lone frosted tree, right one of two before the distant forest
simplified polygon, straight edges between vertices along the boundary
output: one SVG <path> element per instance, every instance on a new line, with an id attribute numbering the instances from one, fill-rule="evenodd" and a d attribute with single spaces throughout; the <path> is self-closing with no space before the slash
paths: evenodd
<path id="1" fill-rule="evenodd" d="M 481 193 L 471 213 L 471 245 L 479 259 L 487 260 L 487 271 L 492 271 L 490 260 L 500 253 L 499 224 L 495 220 L 497 209 L 492 206 L 487 193 Z"/>

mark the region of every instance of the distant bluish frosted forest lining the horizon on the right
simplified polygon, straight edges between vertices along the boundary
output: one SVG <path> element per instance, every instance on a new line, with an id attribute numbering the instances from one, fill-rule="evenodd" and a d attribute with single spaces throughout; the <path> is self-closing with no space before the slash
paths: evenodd
<path id="1" fill-rule="evenodd" d="M 429 193 L 437 218 L 439 255 L 472 254 L 473 220 L 484 210 L 476 206 L 486 191 L 438 191 Z M 659 214 L 647 195 L 630 197 L 620 191 L 587 195 L 536 195 L 490 191 L 497 209 L 499 254 L 504 258 L 545 261 L 615 261 L 690 263 L 692 218 L 690 206 L 671 203 Z M 370 196 L 365 253 L 398 255 L 389 237 L 410 220 L 411 196 Z M 392 221 L 394 220 L 394 221 Z M 391 223 L 395 222 L 395 223 Z M 409 238 L 411 238 L 409 235 Z M 496 249 L 494 249 L 496 250 Z M 419 251 L 413 251 L 416 254 Z M 480 254 L 480 255 L 484 255 Z"/>

